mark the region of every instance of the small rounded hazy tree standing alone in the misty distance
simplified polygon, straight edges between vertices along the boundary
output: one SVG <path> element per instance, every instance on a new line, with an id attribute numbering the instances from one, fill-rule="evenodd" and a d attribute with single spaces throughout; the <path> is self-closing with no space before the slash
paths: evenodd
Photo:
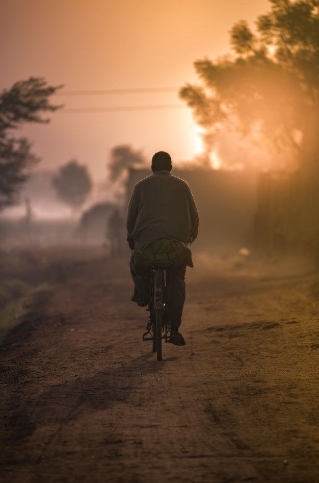
<path id="1" fill-rule="evenodd" d="M 71 159 L 61 166 L 58 176 L 52 180 L 59 198 L 68 204 L 74 212 L 85 202 L 92 189 L 87 167 Z"/>

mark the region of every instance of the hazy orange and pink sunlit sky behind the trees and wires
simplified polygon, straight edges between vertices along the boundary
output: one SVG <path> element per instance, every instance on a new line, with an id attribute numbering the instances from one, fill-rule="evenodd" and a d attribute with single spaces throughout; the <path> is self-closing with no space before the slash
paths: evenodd
<path id="1" fill-rule="evenodd" d="M 66 90 L 174 87 L 194 81 L 193 62 L 229 50 L 228 31 L 251 25 L 267 0 L 0 0 L 0 89 L 44 76 Z M 180 103 L 176 92 L 56 96 L 66 107 Z M 188 160 L 196 150 L 188 109 L 55 113 L 46 126 L 23 129 L 42 156 L 38 168 L 75 156 L 96 180 L 110 149 L 132 144 L 151 155 Z"/>

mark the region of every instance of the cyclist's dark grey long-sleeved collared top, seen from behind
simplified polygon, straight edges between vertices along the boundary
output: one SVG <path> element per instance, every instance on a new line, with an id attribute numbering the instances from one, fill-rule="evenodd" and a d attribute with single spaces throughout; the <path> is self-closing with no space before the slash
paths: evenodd
<path id="1" fill-rule="evenodd" d="M 127 240 L 140 252 L 149 241 L 170 238 L 188 244 L 197 237 L 198 212 L 189 185 L 169 171 L 139 181 L 127 213 Z"/>

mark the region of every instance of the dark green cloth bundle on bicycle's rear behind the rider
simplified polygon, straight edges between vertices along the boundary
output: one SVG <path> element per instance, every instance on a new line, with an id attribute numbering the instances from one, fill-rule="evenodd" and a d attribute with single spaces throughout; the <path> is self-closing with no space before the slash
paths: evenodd
<path id="1" fill-rule="evenodd" d="M 194 267 L 191 250 L 181 241 L 162 238 L 145 245 L 135 261 L 138 274 L 147 272 L 152 265 L 173 268 L 179 265 Z"/>

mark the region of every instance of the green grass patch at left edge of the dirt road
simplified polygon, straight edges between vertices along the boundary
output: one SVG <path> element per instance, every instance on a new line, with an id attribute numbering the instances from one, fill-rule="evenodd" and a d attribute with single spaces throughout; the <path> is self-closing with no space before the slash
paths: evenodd
<path id="1" fill-rule="evenodd" d="M 8 332 L 22 322 L 35 298 L 51 288 L 48 283 L 33 286 L 21 280 L 8 280 L 0 284 L 0 344 Z"/>

